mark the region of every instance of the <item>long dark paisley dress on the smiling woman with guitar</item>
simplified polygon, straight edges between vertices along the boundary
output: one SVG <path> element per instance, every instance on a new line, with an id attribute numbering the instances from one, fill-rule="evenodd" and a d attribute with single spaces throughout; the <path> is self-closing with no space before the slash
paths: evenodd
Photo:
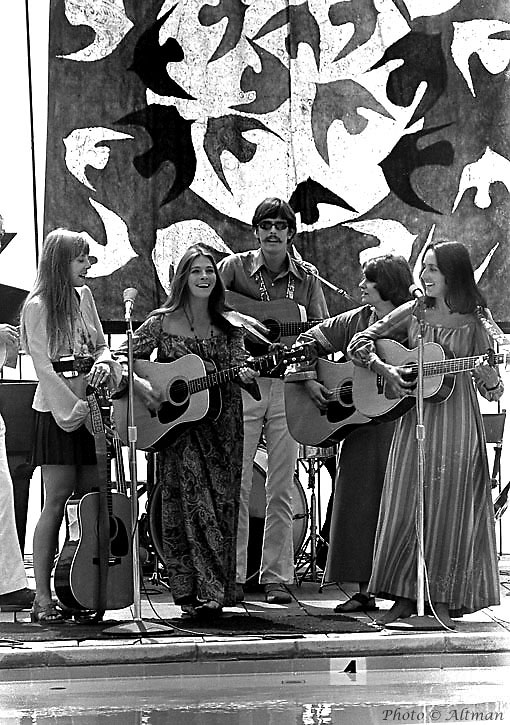
<path id="1" fill-rule="evenodd" d="M 242 336 L 221 333 L 207 339 L 171 335 L 163 315 L 146 320 L 133 339 L 135 358 L 157 349 L 158 362 L 188 353 L 211 360 L 218 369 L 242 363 Z M 219 418 L 193 423 L 157 454 L 162 484 L 162 544 L 174 601 L 195 599 L 221 605 L 235 602 L 235 562 L 243 425 L 241 392 L 221 386 Z"/>

